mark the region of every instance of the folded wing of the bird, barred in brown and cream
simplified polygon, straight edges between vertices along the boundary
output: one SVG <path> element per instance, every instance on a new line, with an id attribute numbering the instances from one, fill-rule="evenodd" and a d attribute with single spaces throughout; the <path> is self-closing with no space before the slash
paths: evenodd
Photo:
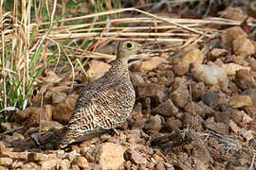
<path id="1" fill-rule="evenodd" d="M 69 128 L 86 132 L 117 127 L 126 120 L 134 105 L 129 98 L 134 96 L 126 93 L 130 90 L 127 84 L 115 82 L 98 87 L 97 91 L 83 91 L 82 99 L 78 99 L 78 108 L 69 121 Z"/>

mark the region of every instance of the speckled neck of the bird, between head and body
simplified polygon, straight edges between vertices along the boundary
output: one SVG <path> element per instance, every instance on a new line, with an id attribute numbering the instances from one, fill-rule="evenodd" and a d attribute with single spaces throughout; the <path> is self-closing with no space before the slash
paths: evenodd
<path id="1" fill-rule="evenodd" d="M 127 76 L 129 77 L 128 60 L 116 59 L 112 63 L 112 67 L 109 70 L 109 74 L 113 76 Z"/>

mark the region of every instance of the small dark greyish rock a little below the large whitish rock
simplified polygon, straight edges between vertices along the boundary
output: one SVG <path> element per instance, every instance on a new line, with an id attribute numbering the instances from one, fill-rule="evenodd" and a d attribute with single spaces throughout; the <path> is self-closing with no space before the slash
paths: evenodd
<path id="1" fill-rule="evenodd" d="M 218 93 L 203 93 L 201 96 L 202 101 L 209 107 L 216 107 L 219 104 L 219 94 Z"/>

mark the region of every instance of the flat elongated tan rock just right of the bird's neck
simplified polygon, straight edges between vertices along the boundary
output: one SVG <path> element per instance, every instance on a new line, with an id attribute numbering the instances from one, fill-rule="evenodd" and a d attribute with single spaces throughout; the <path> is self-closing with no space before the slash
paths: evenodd
<path id="1" fill-rule="evenodd" d="M 133 64 L 133 71 L 134 72 L 144 72 L 148 73 L 152 70 L 154 70 L 159 64 L 167 62 L 167 60 L 160 58 L 160 57 L 154 57 L 151 59 L 148 59 L 146 61 L 141 61 Z"/>

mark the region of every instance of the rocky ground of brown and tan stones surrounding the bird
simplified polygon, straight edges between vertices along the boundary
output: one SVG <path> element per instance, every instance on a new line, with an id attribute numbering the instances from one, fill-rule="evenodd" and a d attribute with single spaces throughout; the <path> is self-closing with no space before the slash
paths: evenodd
<path id="1" fill-rule="evenodd" d="M 127 122 L 58 149 L 86 76 L 48 69 L 26 110 L 1 123 L 0 170 L 220 169 L 256 167 L 256 29 L 219 37 L 130 65 L 137 92 Z M 90 60 L 89 80 L 109 69 Z M 103 68 L 103 69 L 102 69 Z"/>

